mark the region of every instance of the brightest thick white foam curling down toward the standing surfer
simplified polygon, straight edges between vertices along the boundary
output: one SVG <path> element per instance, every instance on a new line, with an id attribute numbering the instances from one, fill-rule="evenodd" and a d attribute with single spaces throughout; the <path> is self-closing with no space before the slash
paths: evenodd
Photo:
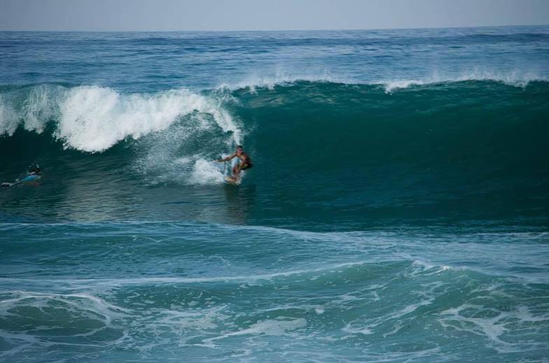
<path id="1" fill-rule="evenodd" d="M 69 90 L 60 106 L 56 136 L 65 145 L 83 151 L 104 151 L 124 138 L 140 138 L 167 129 L 183 115 L 209 113 L 223 131 L 239 129 L 230 115 L 214 101 L 188 90 L 158 94 L 120 94 L 103 87 L 83 86 Z"/>

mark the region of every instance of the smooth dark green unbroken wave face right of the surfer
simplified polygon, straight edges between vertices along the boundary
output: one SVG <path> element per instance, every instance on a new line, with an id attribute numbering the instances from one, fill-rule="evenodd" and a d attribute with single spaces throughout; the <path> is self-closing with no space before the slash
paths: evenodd
<path id="1" fill-rule="evenodd" d="M 251 178 L 296 214 L 482 219 L 546 213 L 548 90 L 302 83 L 238 94 L 237 113 L 251 125 Z"/>

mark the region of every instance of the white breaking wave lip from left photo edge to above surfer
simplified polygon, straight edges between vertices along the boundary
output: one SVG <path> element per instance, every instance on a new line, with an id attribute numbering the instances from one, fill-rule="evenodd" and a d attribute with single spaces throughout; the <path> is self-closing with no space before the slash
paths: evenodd
<path id="1" fill-rule="evenodd" d="M 102 152 L 119 141 L 167 129 L 181 118 L 209 114 L 239 142 L 241 132 L 220 101 L 186 89 L 155 94 L 122 94 L 106 87 L 41 85 L 23 94 L 1 94 L 0 134 L 22 126 L 43 132 L 55 121 L 54 136 L 65 148 Z"/>

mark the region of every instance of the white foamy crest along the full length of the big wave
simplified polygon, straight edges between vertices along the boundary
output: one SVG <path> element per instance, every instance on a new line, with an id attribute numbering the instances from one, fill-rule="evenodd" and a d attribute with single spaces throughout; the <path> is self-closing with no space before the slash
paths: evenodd
<path id="1" fill-rule="evenodd" d="M 532 72 L 513 71 L 494 73 L 473 70 L 459 76 L 433 73 L 419 79 L 376 80 L 361 83 L 352 78 L 340 78 L 329 73 L 298 75 L 279 73 L 274 77 L 252 77 L 232 85 L 222 84 L 215 90 L 191 92 L 188 89 L 167 90 L 153 94 L 125 94 L 108 87 L 82 85 L 0 86 L 0 136 L 11 136 L 16 129 L 41 134 L 48 123 L 55 124 L 53 136 L 65 148 L 85 152 L 103 152 L 126 138 L 138 139 L 155 131 L 169 128 L 186 116 L 200 115 L 200 122 L 208 122 L 209 115 L 223 132 L 232 134 L 232 141 L 240 143 L 242 130 L 235 117 L 223 104 L 230 92 L 275 87 L 296 86 L 303 83 L 381 86 L 394 92 L 412 86 L 427 86 L 466 81 L 494 81 L 515 87 L 527 87 L 532 82 L 549 82 Z M 202 124 L 202 127 L 207 125 Z M 90 134 L 95 137 L 90 137 Z"/>

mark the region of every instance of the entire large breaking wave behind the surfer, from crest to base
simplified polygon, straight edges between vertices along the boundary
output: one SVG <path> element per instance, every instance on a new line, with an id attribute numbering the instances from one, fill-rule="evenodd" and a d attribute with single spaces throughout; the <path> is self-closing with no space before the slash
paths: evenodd
<path id="1" fill-rule="evenodd" d="M 19 105 L 32 101 L 25 92 Z M 338 222 L 347 229 L 387 220 L 547 222 L 548 83 L 470 80 L 388 92 L 382 85 L 296 82 L 194 96 L 111 91 L 97 96 L 99 104 L 101 97 L 121 103 L 104 118 L 83 113 L 85 127 L 80 113 L 71 119 L 63 111 L 67 92 L 73 90 L 62 90 L 57 104 L 57 96 L 46 97 L 53 111 L 33 114 L 46 115 L 43 126 L 19 120 L 18 131 L 0 138 L 0 152 L 9 155 L 3 179 L 27 162 L 45 169 L 45 192 L 25 191 L 34 196 L 33 211 L 15 203 L 19 189 L 2 194 L 3 213 L 27 208 L 51 216 L 41 211 L 47 200 L 48 211 L 83 218 L 83 206 L 75 208 L 76 196 L 67 193 L 78 188 L 78 198 L 90 196 L 88 206 L 103 206 L 93 217 L 99 219 L 139 218 L 142 209 L 159 220 L 328 228 Z M 90 130 L 99 136 L 106 130 L 106 138 L 91 143 L 98 136 Z M 211 159 L 236 143 L 254 166 L 238 190 L 227 190 L 223 166 Z"/>

